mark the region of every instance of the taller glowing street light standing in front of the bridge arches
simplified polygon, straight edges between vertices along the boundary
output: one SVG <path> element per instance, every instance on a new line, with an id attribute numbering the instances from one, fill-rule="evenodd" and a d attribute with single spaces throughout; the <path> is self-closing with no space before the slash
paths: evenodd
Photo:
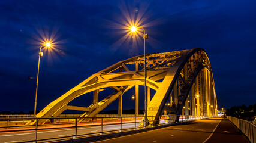
<path id="1" fill-rule="evenodd" d="M 137 29 L 143 29 L 143 39 L 144 39 L 144 71 L 145 71 L 145 122 L 147 120 L 147 70 L 146 70 L 146 39 L 149 38 L 149 35 L 146 34 L 145 29 L 143 27 L 136 27 L 136 26 L 131 26 L 131 32 L 135 33 L 137 32 Z"/>

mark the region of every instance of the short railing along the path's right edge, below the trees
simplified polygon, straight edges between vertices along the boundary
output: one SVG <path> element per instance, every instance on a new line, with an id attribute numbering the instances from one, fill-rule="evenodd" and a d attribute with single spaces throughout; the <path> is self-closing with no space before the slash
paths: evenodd
<path id="1" fill-rule="evenodd" d="M 252 123 L 238 119 L 236 117 L 227 116 L 227 119 L 229 119 L 234 125 L 236 125 L 237 128 L 239 128 L 252 143 L 256 143 L 256 126 Z"/>

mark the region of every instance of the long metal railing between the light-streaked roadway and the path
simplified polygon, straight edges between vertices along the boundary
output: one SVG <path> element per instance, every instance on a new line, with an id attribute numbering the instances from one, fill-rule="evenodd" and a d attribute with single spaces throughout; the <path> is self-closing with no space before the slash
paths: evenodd
<path id="1" fill-rule="evenodd" d="M 17 120 L 33 120 L 34 125 L 0 126 L 0 133 L 10 138 L 15 133 L 21 133 L 23 141 L 16 142 L 44 142 L 59 139 L 76 139 L 86 136 L 98 136 L 107 133 L 124 132 L 152 128 L 171 123 L 187 122 L 203 119 L 202 116 L 147 116 L 151 120 L 144 121 L 141 116 L 129 117 L 70 117 L 70 118 L 17 118 Z M 156 119 L 155 122 L 154 119 Z M 47 122 L 41 123 L 42 119 Z M 83 119 L 82 122 L 79 122 Z M 7 119 L 10 120 L 10 119 Z M 40 124 L 41 123 L 41 124 Z M 142 126 L 140 126 L 140 124 Z M 63 134 L 65 135 L 59 135 Z M 49 133 L 44 135 L 44 133 Z M 59 132 L 59 133 L 58 133 Z M 26 137 L 25 137 L 26 136 Z M 17 137 L 17 134 L 16 134 Z M 5 141 L 7 142 L 7 141 Z M 10 142 L 10 141 L 8 141 Z M 13 141 L 11 141 L 13 142 Z"/>

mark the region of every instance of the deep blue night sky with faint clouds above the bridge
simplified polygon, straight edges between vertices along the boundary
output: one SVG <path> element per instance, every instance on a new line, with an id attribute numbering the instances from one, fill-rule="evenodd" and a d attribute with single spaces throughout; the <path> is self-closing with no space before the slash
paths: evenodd
<path id="1" fill-rule="evenodd" d="M 34 110 L 36 80 L 28 77 L 37 76 L 42 35 L 53 35 L 56 49 L 40 60 L 38 110 L 92 74 L 144 54 L 142 42 L 121 40 L 118 26 L 129 14 L 143 15 L 147 53 L 206 50 L 219 109 L 255 104 L 255 7 L 255 0 L 0 1 L 0 111 Z M 124 100 L 124 109 L 134 108 L 130 95 Z M 72 104 L 91 102 L 88 95 Z"/>

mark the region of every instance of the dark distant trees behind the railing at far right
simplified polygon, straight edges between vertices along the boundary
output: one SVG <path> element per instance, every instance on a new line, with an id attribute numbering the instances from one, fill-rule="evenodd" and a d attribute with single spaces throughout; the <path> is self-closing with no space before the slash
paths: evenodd
<path id="1" fill-rule="evenodd" d="M 256 104 L 249 105 L 248 107 L 244 104 L 242 106 L 233 106 L 226 110 L 226 114 L 227 116 L 251 121 L 256 117 Z"/>

